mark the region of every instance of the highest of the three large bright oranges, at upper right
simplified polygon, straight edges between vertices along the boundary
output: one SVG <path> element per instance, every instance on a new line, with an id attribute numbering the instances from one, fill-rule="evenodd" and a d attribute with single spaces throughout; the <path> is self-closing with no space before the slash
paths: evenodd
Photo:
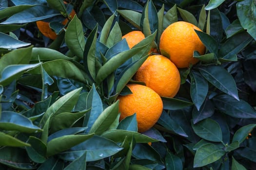
<path id="1" fill-rule="evenodd" d="M 201 31 L 191 23 L 178 21 L 169 25 L 161 34 L 161 54 L 169 57 L 177 68 L 187 68 L 190 64 L 196 64 L 199 60 L 193 57 L 194 51 L 201 55 L 205 52 L 205 46 L 195 30 Z"/>

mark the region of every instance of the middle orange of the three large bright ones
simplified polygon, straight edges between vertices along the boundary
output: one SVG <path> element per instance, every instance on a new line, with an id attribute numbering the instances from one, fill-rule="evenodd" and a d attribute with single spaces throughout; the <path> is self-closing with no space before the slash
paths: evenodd
<path id="1" fill-rule="evenodd" d="M 163 97 L 174 97 L 180 86 L 177 67 L 163 55 L 151 55 L 138 68 L 134 80 L 144 82 Z"/>

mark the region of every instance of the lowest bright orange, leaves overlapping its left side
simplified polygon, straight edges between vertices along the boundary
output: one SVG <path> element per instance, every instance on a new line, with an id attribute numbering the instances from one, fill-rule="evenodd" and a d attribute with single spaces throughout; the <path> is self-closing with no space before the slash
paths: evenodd
<path id="1" fill-rule="evenodd" d="M 156 124 L 163 110 L 160 96 L 145 85 L 128 84 L 132 94 L 118 96 L 120 120 L 136 113 L 138 132 L 145 132 Z"/>

